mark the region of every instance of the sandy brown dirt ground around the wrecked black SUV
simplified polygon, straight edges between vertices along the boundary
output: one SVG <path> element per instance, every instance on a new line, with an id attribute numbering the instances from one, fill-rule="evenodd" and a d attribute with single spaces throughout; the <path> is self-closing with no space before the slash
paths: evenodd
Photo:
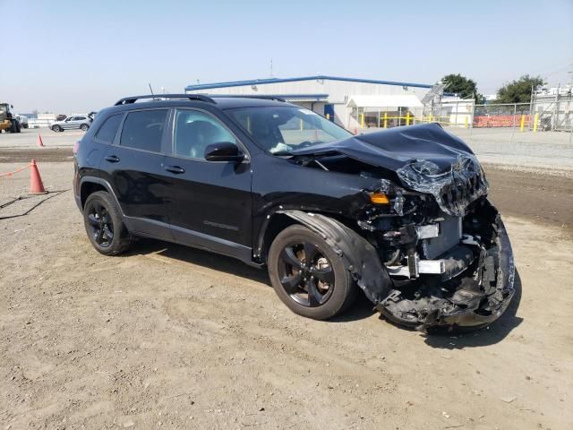
<path id="1" fill-rule="evenodd" d="M 426 337 L 364 297 L 304 319 L 264 271 L 215 254 L 141 240 L 104 257 L 72 163 L 39 168 L 63 193 L 0 209 L 0 428 L 573 426 L 570 177 L 488 168 L 517 295 L 489 329 Z M 0 179 L 0 205 L 28 181 Z"/>

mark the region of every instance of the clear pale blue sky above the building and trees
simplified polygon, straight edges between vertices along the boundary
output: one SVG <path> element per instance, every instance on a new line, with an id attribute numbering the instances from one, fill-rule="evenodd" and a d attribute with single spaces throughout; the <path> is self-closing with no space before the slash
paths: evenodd
<path id="1" fill-rule="evenodd" d="M 316 73 L 483 94 L 522 74 L 571 81 L 573 0 L 0 0 L 0 100 L 98 110 L 161 87 Z"/>

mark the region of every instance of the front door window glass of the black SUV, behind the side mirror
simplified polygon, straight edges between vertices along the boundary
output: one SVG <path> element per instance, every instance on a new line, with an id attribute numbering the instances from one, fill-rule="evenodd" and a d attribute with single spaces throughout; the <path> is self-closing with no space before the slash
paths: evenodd
<path id="1" fill-rule="evenodd" d="M 217 118 L 198 110 L 178 109 L 175 114 L 174 152 L 176 156 L 205 159 L 212 143 L 231 142 L 235 137 Z"/>

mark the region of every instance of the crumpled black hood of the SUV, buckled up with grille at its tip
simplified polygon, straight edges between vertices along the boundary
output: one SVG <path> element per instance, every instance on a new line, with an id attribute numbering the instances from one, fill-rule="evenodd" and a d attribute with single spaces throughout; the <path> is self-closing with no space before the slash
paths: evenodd
<path id="1" fill-rule="evenodd" d="M 295 156 L 343 154 L 395 172 L 402 185 L 431 193 L 440 209 L 463 216 L 466 207 L 487 193 L 483 169 L 466 143 L 438 124 L 397 127 L 321 143 Z"/>

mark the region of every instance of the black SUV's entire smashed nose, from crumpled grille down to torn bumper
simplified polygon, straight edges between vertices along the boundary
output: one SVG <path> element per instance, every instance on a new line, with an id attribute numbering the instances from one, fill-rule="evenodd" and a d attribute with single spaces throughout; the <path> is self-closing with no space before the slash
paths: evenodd
<path id="1" fill-rule="evenodd" d="M 405 189 L 382 180 L 390 204 L 358 223 L 393 284 L 376 309 L 422 331 L 492 323 L 513 297 L 515 266 L 477 159 L 459 154 L 445 169 L 415 159 L 396 173 Z"/>

